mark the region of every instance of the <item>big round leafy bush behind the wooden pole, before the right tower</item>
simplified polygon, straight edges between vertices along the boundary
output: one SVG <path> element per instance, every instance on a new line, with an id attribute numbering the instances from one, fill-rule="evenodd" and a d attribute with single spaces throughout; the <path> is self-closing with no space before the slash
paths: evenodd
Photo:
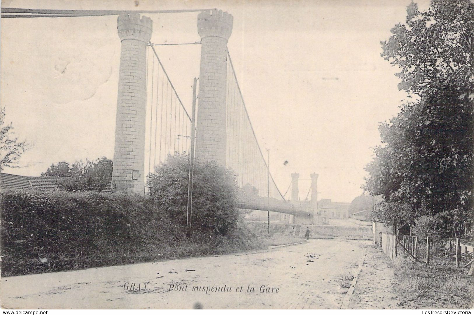
<path id="1" fill-rule="evenodd" d="M 149 195 L 171 218 L 186 225 L 189 160 L 170 156 L 147 177 Z M 227 235 L 237 225 L 235 174 L 215 162 L 196 161 L 192 187 L 192 226 L 202 232 Z"/>

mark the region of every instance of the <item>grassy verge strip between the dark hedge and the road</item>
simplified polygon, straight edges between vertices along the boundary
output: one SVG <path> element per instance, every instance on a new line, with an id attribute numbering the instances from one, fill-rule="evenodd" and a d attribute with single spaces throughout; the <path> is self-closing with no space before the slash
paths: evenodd
<path id="1" fill-rule="evenodd" d="M 171 237 L 149 238 L 136 246 L 125 247 L 114 244 L 99 246 L 88 252 L 54 253 L 41 261 L 25 258 L 16 252 L 2 251 L 1 276 L 19 276 L 53 271 L 81 270 L 93 267 L 127 265 L 148 261 L 164 261 L 189 257 L 231 254 L 267 249 L 269 245 L 301 242 L 302 238 L 286 233 L 281 227 L 271 230 L 270 237 L 265 228 L 239 222 L 238 228 L 227 236 L 192 234 L 190 239 Z M 3 249 L 3 248 L 2 248 Z"/>

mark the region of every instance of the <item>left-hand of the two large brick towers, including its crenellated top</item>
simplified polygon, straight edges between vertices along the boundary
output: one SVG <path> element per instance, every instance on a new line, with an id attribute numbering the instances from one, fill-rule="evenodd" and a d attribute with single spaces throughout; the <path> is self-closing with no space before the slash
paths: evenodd
<path id="1" fill-rule="evenodd" d="M 117 23 L 122 43 L 118 75 L 112 190 L 144 194 L 146 45 L 152 20 L 138 13 L 121 14 Z"/>

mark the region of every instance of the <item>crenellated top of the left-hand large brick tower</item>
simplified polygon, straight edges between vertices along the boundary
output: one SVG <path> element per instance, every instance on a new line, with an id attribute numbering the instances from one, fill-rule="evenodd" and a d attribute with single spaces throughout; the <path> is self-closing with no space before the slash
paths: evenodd
<path id="1" fill-rule="evenodd" d="M 151 18 L 139 13 L 120 14 L 117 20 L 117 31 L 120 41 L 124 39 L 137 39 L 148 43 L 152 33 Z"/>

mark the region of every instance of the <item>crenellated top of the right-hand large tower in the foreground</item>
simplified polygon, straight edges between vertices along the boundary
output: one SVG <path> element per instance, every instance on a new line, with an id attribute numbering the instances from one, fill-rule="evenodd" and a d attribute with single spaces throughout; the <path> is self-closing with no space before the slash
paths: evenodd
<path id="1" fill-rule="evenodd" d="M 232 33 L 232 23 L 234 18 L 227 12 L 213 9 L 202 11 L 198 15 L 198 32 L 201 39 L 208 36 L 217 36 L 229 39 Z"/>

